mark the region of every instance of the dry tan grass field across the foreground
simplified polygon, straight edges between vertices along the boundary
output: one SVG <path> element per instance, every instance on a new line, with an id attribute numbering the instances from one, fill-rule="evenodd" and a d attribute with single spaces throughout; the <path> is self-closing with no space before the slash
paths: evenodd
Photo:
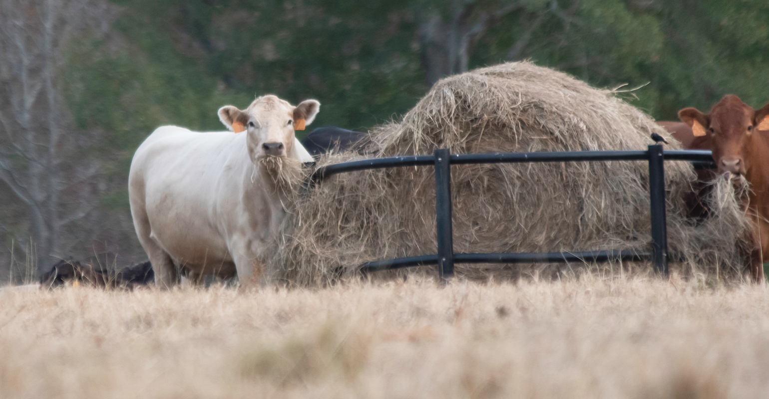
<path id="1" fill-rule="evenodd" d="M 769 291 L 672 278 L 0 291 L 0 397 L 766 397 Z"/>

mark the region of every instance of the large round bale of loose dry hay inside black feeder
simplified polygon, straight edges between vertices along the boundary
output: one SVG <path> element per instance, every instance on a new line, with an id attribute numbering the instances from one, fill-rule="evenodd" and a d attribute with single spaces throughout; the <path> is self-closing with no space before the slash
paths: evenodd
<path id="1" fill-rule="evenodd" d="M 679 148 L 613 91 L 516 62 L 438 81 L 401 121 L 370 132 L 369 151 L 386 157 L 429 155 L 435 148 L 646 149 L 652 132 L 671 142 L 667 148 Z M 369 157 L 348 152 L 319 163 L 360 158 Z M 734 196 L 724 194 L 731 186 L 714 190 L 712 218 L 692 221 L 684 217 L 684 195 L 696 180 L 691 165 L 668 161 L 665 172 L 671 251 L 684 255 L 687 273 L 736 271 L 741 261 L 734 242 L 746 221 Z M 457 165 L 451 173 L 457 252 L 644 250 L 651 242 L 645 161 Z M 434 254 L 434 207 L 433 168 L 335 175 L 295 198 L 268 270 L 292 284 L 324 284 L 338 268 L 349 272 L 365 261 Z M 467 278 L 504 278 L 563 267 L 457 264 L 456 271 Z"/>

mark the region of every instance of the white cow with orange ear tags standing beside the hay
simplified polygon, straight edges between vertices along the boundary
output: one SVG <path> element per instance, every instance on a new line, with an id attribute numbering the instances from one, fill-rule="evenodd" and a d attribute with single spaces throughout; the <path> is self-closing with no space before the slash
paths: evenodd
<path id="1" fill-rule="evenodd" d="M 294 107 L 275 95 L 244 111 L 218 111 L 233 131 L 199 133 L 163 126 L 136 150 L 128 197 L 136 234 L 155 284 L 178 282 L 178 268 L 258 279 L 265 249 L 285 217 L 285 188 L 312 157 L 294 129 L 310 124 L 320 103 Z M 245 128 L 245 131 L 238 133 Z"/>

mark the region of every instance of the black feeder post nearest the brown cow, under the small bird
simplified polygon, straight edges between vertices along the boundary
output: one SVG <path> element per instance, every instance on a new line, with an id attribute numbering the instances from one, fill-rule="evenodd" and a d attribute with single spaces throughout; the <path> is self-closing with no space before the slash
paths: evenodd
<path id="1" fill-rule="evenodd" d="M 649 194 L 651 196 L 651 251 L 657 273 L 667 277 L 667 220 L 665 216 L 665 169 L 662 145 L 649 146 Z"/>

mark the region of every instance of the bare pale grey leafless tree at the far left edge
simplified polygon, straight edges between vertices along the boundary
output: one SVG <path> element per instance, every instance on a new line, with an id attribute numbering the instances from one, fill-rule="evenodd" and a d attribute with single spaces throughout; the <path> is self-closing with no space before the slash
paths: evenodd
<path id="1" fill-rule="evenodd" d="M 62 48 L 78 31 L 99 25 L 88 25 L 92 15 L 104 16 L 87 0 L 0 2 L 0 180 L 27 208 L 33 245 L 26 251 L 39 255 L 41 267 L 58 250 L 62 229 L 93 208 L 87 202 L 72 208 L 63 198 L 73 184 L 65 175 L 74 171 L 65 170 L 72 141 L 60 79 Z"/>

